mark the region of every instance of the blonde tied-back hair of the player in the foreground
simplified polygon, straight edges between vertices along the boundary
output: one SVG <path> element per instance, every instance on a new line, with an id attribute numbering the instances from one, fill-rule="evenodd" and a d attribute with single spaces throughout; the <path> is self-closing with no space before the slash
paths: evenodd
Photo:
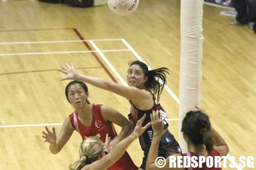
<path id="1" fill-rule="evenodd" d="M 104 143 L 98 137 L 88 137 L 80 144 L 80 159 L 69 165 L 69 170 L 79 170 L 85 165 L 99 159 L 103 151 Z"/>

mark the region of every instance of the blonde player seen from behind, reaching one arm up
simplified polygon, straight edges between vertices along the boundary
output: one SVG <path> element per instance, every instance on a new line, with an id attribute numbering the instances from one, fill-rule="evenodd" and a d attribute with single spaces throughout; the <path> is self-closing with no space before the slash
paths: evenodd
<path id="1" fill-rule="evenodd" d="M 113 163 L 115 163 L 115 161 L 117 161 L 124 152 L 126 152 L 128 146 L 151 125 L 149 122 L 145 126 L 142 126 L 145 118 L 146 115 L 138 120 L 132 134 L 116 144 L 112 151 L 107 155 L 104 153 L 104 149 L 110 149 L 108 146 L 110 137 L 108 137 L 108 135 L 106 136 L 105 146 L 103 146 L 103 143 L 99 138 L 94 136 L 82 141 L 79 148 L 80 159 L 71 163 L 69 165 L 69 170 L 105 170 L 113 165 Z M 124 162 L 123 168 L 116 168 L 116 170 L 119 169 L 130 169 L 130 167 Z"/>

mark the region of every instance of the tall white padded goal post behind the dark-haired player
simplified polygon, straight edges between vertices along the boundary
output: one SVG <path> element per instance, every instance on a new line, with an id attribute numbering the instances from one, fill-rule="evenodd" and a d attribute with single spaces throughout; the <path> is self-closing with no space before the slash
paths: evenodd
<path id="1" fill-rule="evenodd" d="M 180 2 L 180 85 L 179 85 L 179 132 L 183 117 L 189 110 L 199 106 L 202 81 L 202 15 L 203 0 L 181 0 Z M 187 144 L 179 134 L 182 152 Z"/>

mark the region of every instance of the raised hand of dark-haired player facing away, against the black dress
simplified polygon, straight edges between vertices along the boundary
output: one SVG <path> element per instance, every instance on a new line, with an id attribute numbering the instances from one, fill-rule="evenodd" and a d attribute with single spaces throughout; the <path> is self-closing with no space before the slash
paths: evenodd
<path id="1" fill-rule="evenodd" d="M 162 131 L 163 131 L 163 119 L 162 119 L 162 113 L 158 112 L 158 110 L 155 112 L 153 111 L 152 114 L 150 114 L 150 118 L 151 118 L 151 125 L 152 125 L 152 129 L 154 131 L 154 134 L 159 133 L 162 135 Z"/>

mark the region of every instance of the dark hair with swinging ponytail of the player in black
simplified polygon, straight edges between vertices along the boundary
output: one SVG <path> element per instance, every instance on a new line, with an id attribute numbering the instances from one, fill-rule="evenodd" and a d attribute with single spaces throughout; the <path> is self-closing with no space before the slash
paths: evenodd
<path id="1" fill-rule="evenodd" d="M 160 67 L 159 69 L 149 70 L 148 66 L 141 61 L 132 61 L 129 63 L 129 66 L 135 64 L 140 66 L 143 70 L 144 76 L 148 77 L 148 81 L 144 83 L 144 86 L 151 89 L 152 93 L 157 97 L 157 100 L 159 101 L 160 95 L 166 84 L 166 73 L 169 74 L 169 69 L 166 67 Z"/>

